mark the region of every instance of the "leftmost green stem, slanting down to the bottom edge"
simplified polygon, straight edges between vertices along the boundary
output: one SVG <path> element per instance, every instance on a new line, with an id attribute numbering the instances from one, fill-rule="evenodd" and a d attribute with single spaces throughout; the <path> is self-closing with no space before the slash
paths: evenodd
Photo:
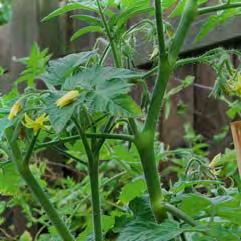
<path id="1" fill-rule="evenodd" d="M 22 157 L 22 153 L 19 149 L 17 141 L 12 139 L 13 131 L 11 129 L 7 129 L 5 131 L 5 135 L 8 141 L 8 144 L 11 148 L 11 158 L 14 161 L 17 170 L 20 176 L 24 179 L 36 199 L 39 201 L 43 209 L 45 210 L 46 214 L 48 215 L 49 219 L 55 226 L 57 232 L 61 236 L 64 241 L 74 241 L 74 237 L 71 235 L 70 231 L 61 220 L 60 216 L 58 215 L 57 211 L 49 201 L 48 196 L 42 190 L 36 179 L 34 178 L 33 174 L 29 170 L 28 165 L 28 158 L 30 158 L 31 154 L 30 151 L 27 152 L 26 157 Z M 34 139 L 33 142 L 36 140 Z M 31 150 L 34 148 L 34 144 L 30 145 Z"/>

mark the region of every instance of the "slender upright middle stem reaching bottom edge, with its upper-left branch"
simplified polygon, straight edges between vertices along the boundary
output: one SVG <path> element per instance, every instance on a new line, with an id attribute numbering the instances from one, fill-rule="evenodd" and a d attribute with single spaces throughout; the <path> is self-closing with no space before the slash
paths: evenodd
<path id="1" fill-rule="evenodd" d="M 88 157 L 88 171 L 90 177 L 91 187 L 91 201 L 92 201 L 92 219 L 94 226 L 95 241 L 102 241 L 101 228 L 101 207 L 100 207 L 100 193 L 99 193 L 99 155 L 93 152 L 87 140 L 84 130 L 76 119 L 73 119 L 76 128 L 78 129 L 82 143 L 84 145 L 86 155 Z"/>

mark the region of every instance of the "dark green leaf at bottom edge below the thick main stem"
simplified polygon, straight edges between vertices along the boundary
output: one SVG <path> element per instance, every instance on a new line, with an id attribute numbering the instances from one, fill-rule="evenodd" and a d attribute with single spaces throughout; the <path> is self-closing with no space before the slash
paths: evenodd
<path id="1" fill-rule="evenodd" d="M 182 232 L 178 223 L 174 221 L 158 225 L 145 219 L 137 219 L 127 224 L 117 241 L 169 241 Z"/>

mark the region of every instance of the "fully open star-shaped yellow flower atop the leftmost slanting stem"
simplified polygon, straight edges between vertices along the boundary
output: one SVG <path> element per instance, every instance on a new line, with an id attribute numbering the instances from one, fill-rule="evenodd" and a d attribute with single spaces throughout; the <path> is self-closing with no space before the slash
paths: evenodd
<path id="1" fill-rule="evenodd" d="M 23 123 L 24 126 L 26 126 L 29 129 L 33 129 L 34 135 L 36 135 L 40 129 L 45 128 L 44 122 L 48 121 L 47 114 L 42 114 L 37 119 L 33 120 L 31 119 L 27 114 L 24 115 L 25 123 Z"/>

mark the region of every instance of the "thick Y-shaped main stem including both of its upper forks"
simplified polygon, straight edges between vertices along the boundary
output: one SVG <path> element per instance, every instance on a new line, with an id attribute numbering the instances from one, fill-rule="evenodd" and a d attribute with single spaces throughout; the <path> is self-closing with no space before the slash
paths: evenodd
<path id="1" fill-rule="evenodd" d="M 163 194 L 160 187 L 157 163 L 154 155 L 156 125 L 159 120 L 163 97 L 168 80 L 173 72 L 175 62 L 189 27 L 197 13 L 197 0 L 188 0 L 169 53 L 166 51 L 163 31 L 162 6 L 160 0 L 155 0 L 155 16 L 159 46 L 158 75 L 154 86 L 144 129 L 136 135 L 136 146 L 142 160 L 145 179 L 150 194 L 150 202 L 154 216 L 158 222 L 166 218 L 166 208 L 163 204 Z"/>

